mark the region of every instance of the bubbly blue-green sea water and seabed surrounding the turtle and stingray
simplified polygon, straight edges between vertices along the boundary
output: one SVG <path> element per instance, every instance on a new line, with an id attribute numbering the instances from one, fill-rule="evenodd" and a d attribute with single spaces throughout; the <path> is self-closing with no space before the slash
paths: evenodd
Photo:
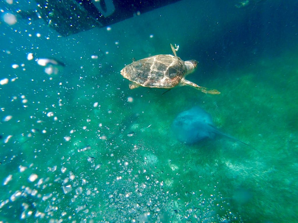
<path id="1" fill-rule="evenodd" d="M 216 2 L 69 37 L 1 20 L 0 222 L 298 221 L 297 2 Z M 1 19 L 35 7 L 22 4 L 1 2 Z M 199 61 L 187 78 L 220 95 L 128 89 L 119 71 L 170 43 Z M 37 58 L 65 67 L 48 75 Z M 251 146 L 178 142 L 171 123 L 193 106 Z"/>

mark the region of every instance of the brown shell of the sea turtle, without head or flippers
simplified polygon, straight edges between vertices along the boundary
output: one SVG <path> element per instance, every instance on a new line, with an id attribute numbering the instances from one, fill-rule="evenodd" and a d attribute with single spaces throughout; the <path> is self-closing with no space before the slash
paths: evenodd
<path id="1" fill-rule="evenodd" d="M 172 88 L 179 84 L 186 70 L 180 57 L 161 54 L 126 65 L 121 75 L 143 87 Z"/>

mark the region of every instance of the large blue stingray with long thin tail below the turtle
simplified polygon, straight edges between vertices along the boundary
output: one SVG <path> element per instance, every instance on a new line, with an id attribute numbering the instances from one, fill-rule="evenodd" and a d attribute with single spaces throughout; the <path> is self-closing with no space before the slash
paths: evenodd
<path id="1" fill-rule="evenodd" d="M 218 130 L 213 124 L 210 114 L 200 107 L 193 107 L 190 110 L 181 112 L 173 121 L 172 130 L 176 138 L 185 144 L 195 144 L 203 139 L 214 139 L 221 135 L 232 141 L 248 145 L 232 136 Z"/>

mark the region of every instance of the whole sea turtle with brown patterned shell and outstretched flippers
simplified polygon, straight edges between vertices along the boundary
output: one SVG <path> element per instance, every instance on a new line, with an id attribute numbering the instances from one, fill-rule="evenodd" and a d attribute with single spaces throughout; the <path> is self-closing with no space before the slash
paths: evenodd
<path id="1" fill-rule="evenodd" d="M 198 65 L 198 61 L 181 60 L 180 57 L 176 55 L 176 51 L 179 46 L 175 49 L 172 44 L 170 45 L 174 56 L 160 54 L 137 61 L 133 59 L 131 64 L 126 65 L 120 71 L 123 77 L 130 80 L 130 89 L 140 86 L 173 88 L 176 86 L 190 85 L 207 94 L 220 94 L 220 92 L 216 89 L 201 87 L 186 80 L 184 77 L 195 70 Z"/>

